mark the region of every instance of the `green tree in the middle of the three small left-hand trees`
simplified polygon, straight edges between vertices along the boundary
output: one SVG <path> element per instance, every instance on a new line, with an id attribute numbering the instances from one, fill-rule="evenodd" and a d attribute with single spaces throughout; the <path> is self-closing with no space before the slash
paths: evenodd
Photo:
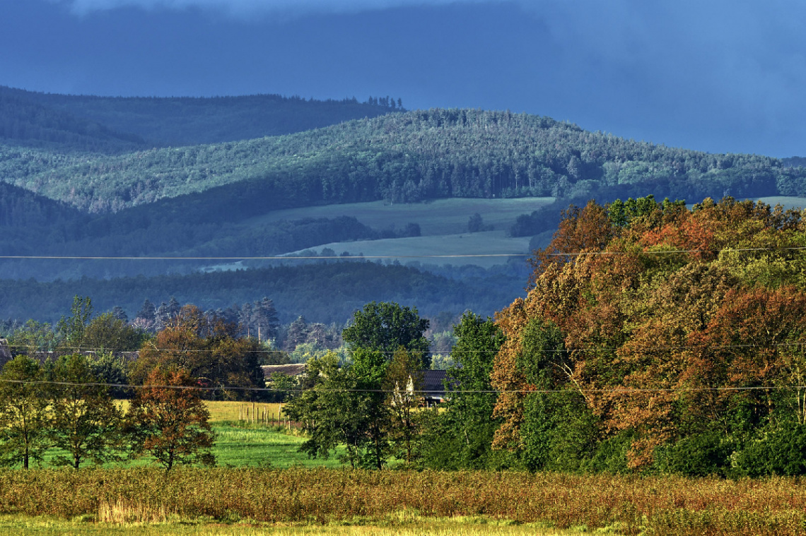
<path id="1" fill-rule="evenodd" d="M 81 354 L 60 357 L 48 367 L 51 415 L 48 438 L 54 447 L 68 452 L 56 456 L 54 465 L 79 468 L 87 460 L 103 464 L 118 460 L 121 441 L 121 411 L 110 390 L 98 383 L 89 359 Z"/>

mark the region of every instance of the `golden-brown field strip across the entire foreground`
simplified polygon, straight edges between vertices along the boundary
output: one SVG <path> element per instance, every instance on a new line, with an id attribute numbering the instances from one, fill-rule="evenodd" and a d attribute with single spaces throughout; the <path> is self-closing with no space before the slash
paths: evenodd
<path id="1" fill-rule="evenodd" d="M 2 534 L 10 534 L 2 523 L 44 524 L 40 534 L 92 534 L 81 523 L 121 522 L 168 523 L 167 532 L 139 534 L 524 534 L 526 528 L 795 536 L 806 527 L 806 488 L 792 478 L 526 472 L 0 470 L 0 515 L 7 516 Z M 69 532 L 70 523 L 79 526 Z M 36 534 L 35 527 L 19 534 Z"/>

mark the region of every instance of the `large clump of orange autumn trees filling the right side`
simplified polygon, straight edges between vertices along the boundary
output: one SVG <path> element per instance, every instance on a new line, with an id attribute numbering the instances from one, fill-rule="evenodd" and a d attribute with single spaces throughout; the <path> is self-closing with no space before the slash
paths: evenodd
<path id="1" fill-rule="evenodd" d="M 493 446 L 533 468 L 608 451 L 623 470 L 700 474 L 781 423 L 806 438 L 804 245 L 800 212 L 751 201 L 570 209 L 526 299 L 496 315 Z M 679 463 L 698 448 L 716 454 Z"/>

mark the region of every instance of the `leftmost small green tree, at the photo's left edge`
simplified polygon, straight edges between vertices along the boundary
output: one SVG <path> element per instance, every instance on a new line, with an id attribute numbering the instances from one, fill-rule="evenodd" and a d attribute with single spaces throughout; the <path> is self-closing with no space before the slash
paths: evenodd
<path id="1" fill-rule="evenodd" d="M 48 448 L 48 399 L 39 361 L 17 356 L 0 373 L 0 463 L 30 467 Z"/>

